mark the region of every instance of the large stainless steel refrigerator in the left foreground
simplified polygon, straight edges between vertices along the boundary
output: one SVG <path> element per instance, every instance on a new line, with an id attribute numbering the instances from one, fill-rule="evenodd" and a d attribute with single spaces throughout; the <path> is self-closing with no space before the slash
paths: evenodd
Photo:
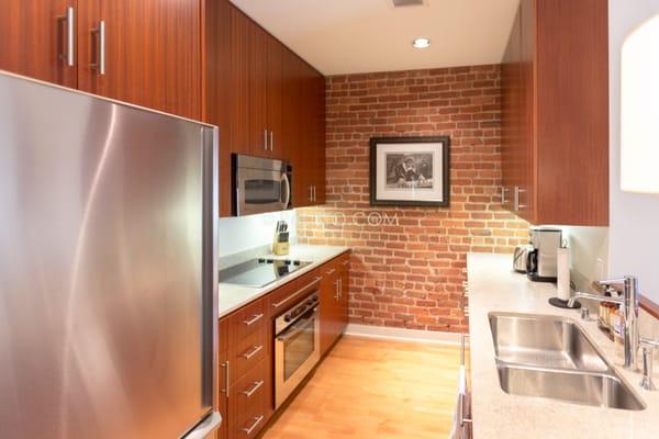
<path id="1" fill-rule="evenodd" d="M 214 434 L 216 128 L 0 72 L 3 438 Z"/>

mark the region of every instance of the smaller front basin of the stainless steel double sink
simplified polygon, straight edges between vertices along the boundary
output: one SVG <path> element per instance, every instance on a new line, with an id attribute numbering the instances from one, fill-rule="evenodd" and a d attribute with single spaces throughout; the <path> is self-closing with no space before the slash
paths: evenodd
<path id="1" fill-rule="evenodd" d="M 540 396 L 597 407 L 643 410 L 645 404 L 617 376 L 607 373 L 557 371 L 500 363 L 499 381 L 505 393 Z"/>

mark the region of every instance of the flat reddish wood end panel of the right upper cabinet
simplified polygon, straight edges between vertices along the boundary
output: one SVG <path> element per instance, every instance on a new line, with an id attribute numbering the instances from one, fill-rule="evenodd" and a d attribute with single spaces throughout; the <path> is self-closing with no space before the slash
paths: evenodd
<path id="1" fill-rule="evenodd" d="M 537 1 L 537 221 L 608 224 L 606 0 Z"/>

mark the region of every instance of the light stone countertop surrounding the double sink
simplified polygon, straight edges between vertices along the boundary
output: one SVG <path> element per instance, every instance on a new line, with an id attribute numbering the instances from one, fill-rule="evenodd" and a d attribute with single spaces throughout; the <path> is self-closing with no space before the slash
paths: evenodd
<path id="1" fill-rule="evenodd" d="M 614 344 L 594 319 L 584 322 L 574 309 L 547 303 L 551 283 L 530 282 L 512 270 L 512 256 L 469 254 L 469 334 L 473 437 L 515 438 L 659 438 L 659 392 L 640 389 L 640 373 L 623 370 Z M 632 412 L 509 395 L 501 390 L 488 313 L 513 312 L 568 316 L 580 325 L 647 405 Z M 643 330 L 641 330 L 641 335 Z M 659 368 L 656 368 L 656 370 Z M 659 374 L 655 373 L 655 383 Z"/>

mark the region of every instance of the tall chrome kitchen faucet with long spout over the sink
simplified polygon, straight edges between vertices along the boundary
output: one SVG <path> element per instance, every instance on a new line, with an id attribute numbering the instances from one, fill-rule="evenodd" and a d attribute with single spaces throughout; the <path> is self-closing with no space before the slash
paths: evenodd
<path id="1" fill-rule="evenodd" d="M 638 350 L 640 348 L 640 337 L 638 335 L 638 280 L 635 277 L 627 275 L 622 279 L 611 279 L 599 281 L 600 285 L 606 290 L 614 290 L 622 294 L 622 297 L 606 297 L 600 294 L 574 293 L 568 301 L 568 306 L 574 306 L 578 299 L 587 299 L 596 302 L 612 302 L 622 305 L 624 319 L 624 345 L 625 345 L 625 369 L 638 371 Z"/>

